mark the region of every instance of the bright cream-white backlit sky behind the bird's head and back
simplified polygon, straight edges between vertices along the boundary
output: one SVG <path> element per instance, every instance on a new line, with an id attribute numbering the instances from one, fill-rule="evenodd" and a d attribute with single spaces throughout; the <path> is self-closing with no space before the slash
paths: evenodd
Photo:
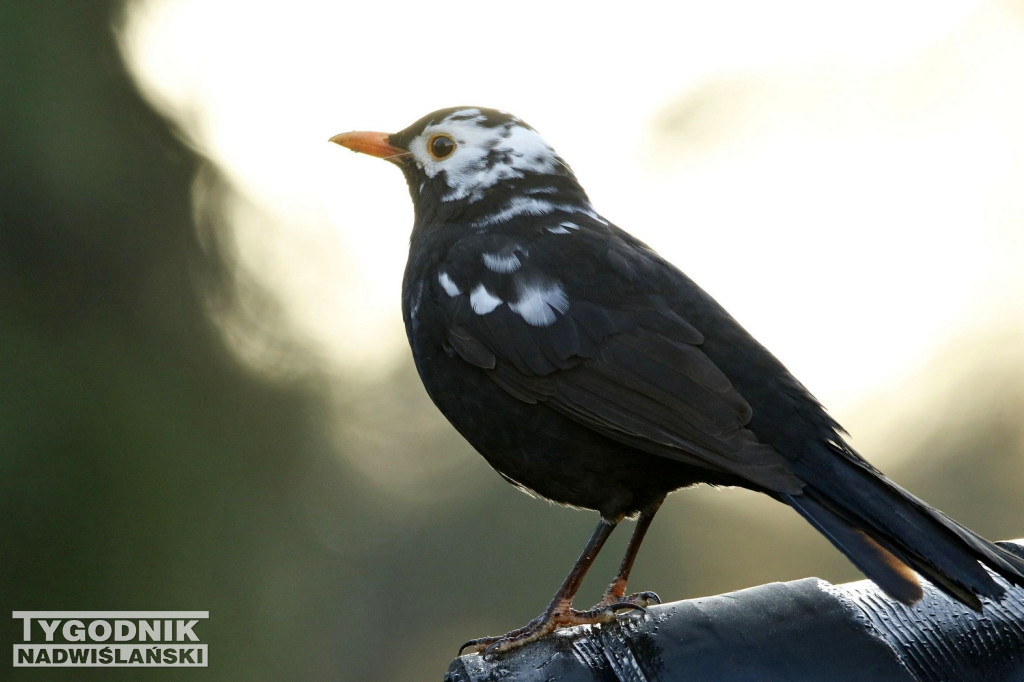
<path id="1" fill-rule="evenodd" d="M 146 93 L 258 209 L 233 213 L 242 265 L 343 371 L 407 352 L 412 208 L 396 169 L 327 139 L 456 104 L 531 123 L 599 211 L 828 404 L 1024 316 L 1024 13 L 623 7 L 148 0 L 124 41 Z"/>

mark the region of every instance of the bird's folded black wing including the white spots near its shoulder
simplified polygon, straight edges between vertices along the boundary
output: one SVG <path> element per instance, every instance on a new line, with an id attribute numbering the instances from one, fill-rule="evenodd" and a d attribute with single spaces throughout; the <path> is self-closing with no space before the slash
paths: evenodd
<path id="1" fill-rule="evenodd" d="M 447 344 L 509 394 L 646 452 L 802 488 L 745 428 L 750 404 L 663 293 L 678 271 L 652 252 L 585 232 L 477 236 L 457 249 L 434 283 Z"/>

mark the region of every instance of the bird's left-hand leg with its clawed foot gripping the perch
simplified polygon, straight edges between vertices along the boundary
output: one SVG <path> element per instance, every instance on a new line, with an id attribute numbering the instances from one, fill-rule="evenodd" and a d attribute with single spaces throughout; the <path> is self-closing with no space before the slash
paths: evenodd
<path id="1" fill-rule="evenodd" d="M 601 551 L 604 542 L 611 535 L 611 531 L 615 529 L 622 518 L 622 516 L 614 519 L 601 518 L 597 524 L 597 528 L 594 529 L 594 535 L 587 541 L 587 546 L 584 548 L 580 558 L 577 559 L 572 569 L 569 570 L 569 574 L 562 581 L 561 587 L 555 592 L 554 598 L 552 598 L 551 603 L 548 604 L 543 613 L 518 630 L 513 630 L 498 637 L 471 639 L 460 647 L 459 653 L 461 654 L 463 650 L 472 648 L 476 651 L 484 652 L 485 655 L 493 655 L 537 641 L 558 628 L 613 621 L 615 617 L 614 609 L 603 609 L 595 613 L 577 611 L 572 608 L 572 598 L 580 590 L 580 585 L 583 583 L 587 570 L 594 563 L 594 559 L 597 558 L 597 553 Z M 627 572 L 629 572 L 628 569 Z"/>

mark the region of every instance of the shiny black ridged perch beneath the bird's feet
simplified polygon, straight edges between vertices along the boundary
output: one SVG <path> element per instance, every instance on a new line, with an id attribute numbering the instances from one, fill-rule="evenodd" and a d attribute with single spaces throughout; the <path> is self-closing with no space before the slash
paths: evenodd
<path id="1" fill-rule="evenodd" d="M 1000 544 L 1024 552 L 1024 540 Z M 1024 680 L 1024 589 L 977 613 L 930 585 L 908 607 L 869 581 L 772 583 L 566 630 L 493 660 L 461 656 L 445 680 Z"/>

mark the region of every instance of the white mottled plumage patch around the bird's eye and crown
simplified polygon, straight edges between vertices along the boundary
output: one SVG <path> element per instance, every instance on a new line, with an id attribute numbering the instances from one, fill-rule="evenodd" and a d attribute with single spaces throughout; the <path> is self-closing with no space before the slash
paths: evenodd
<path id="1" fill-rule="evenodd" d="M 471 202 L 484 190 L 507 178 L 529 173 L 551 173 L 558 166 L 554 150 L 518 119 L 497 126 L 481 125 L 486 116 L 477 109 L 463 109 L 446 116 L 440 123 L 427 126 L 409 144 L 417 164 L 428 177 L 444 171 L 449 186 L 442 201 Z M 435 159 L 427 151 L 434 135 L 445 134 L 456 148 L 444 159 Z"/>

